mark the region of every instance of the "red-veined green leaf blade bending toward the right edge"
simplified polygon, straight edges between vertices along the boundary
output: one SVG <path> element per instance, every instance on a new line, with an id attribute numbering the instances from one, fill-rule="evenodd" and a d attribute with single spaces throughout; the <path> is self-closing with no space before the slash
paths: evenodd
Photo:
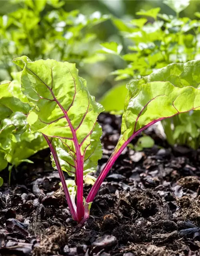
<path id="1" fill-rule="evenodd" d="M 122 130 L 116 151 L 151 124 L 200 109 L 200 61 L 170 64 L 127 85 Z"/>

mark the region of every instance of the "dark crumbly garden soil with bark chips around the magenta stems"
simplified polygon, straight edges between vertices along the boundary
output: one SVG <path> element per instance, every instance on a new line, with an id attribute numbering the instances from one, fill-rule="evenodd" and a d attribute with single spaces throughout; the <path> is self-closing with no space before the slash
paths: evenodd
<path id="1" fill-rule="evenodd" d="M 104 154 L 97 174 L 118 140 L 120 117 L 101 114 L 99 122 Z M 170 148 L 154 130 L 146 133 L 156 145 L 122 152 L 83 227 L 70 217 L 48 150 L 13 171 L 12 188 L 8 171 L 1 172 L 0 255 L 200 255 L 199 151 Z"/>

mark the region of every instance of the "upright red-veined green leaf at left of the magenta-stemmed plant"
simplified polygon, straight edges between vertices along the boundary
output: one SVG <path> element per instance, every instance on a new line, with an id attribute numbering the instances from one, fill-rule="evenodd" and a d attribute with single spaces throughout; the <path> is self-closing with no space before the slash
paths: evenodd
<path id="1" fill-rule="evenodd" d="M 31 130 L 54 142 L 62 169 L 69 174 L 75 174 L 77 156 L 84 170 L 95 169 L 102 156 L 102 130 L 96 120 L 103 107 L 90 96 L 75 64 L 31 62 L 26 56 L 14 62 L 23 68 L 22 92 L 35 105 L 28 115 Z"/>

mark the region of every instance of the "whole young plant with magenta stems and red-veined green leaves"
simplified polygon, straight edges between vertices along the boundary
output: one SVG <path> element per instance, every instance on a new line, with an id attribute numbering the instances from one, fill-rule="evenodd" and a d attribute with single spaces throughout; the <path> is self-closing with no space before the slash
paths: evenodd
<path id="1" fill-rule="evenodd" d="M 90 96 L 86 81 L 75 64 L 55 60 L 15 58 L 21 67 L 22 93 L 30 110 L 27 122 L 40 132 L 52 153 L 52 165 L 59 172 L 66 200 L 74 220 L 84 223 L 98 189 L 126 146 L 140 132 L 160 120 L 200 109 L 200 61 L 170 64 L 127 85 L 121 136 L 94 182 L 83 197 L 84 176 L 94 172 L 102 156 L 97 122 L 103 107 Z M 65 181 L 63 171 L 74 177 Z"/>

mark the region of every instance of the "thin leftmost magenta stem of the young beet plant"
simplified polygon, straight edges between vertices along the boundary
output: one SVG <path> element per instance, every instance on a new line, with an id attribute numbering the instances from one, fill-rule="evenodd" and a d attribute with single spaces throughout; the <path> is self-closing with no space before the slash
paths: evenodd
<path id="1" fill-rule="evenodd" d="M 64 194 L 66 196 L 66 200 L 67 200 L 68 206 L 70 208 L 70 212 L 72 214 L 72 217 L 74 218 L 74 220 L 77 220 L 76 210 L 74 209 L 74 206 L 72 204 L 72 200 L 70 198 L 70 193 L 69 193 L 67 184 L 65 182 L 64 174 L 62 172 L 62 168 L 60 166 L 60 162 L 59 162 L 58 155 L 57 155 L 56 149 L 54 147 L 54 144 L 52 144 L 52 142 L 49 140 L 48 136 L 46 136 L 45 134 L 42 134 L 42 135 L 44 136 L 44 138 L 45 138 L 46 142 L 48 143 L 48 146 L 49 146 L 49 148 L 50 148 L 50 150 L 52 152 L 52 156 L 54 158 L 54 161 L 56 163 L 56 167 L 58 169 L 58 173 L 59 173 L 59 176 L 60 176 L 62 187 L 64 189 Z"/>

